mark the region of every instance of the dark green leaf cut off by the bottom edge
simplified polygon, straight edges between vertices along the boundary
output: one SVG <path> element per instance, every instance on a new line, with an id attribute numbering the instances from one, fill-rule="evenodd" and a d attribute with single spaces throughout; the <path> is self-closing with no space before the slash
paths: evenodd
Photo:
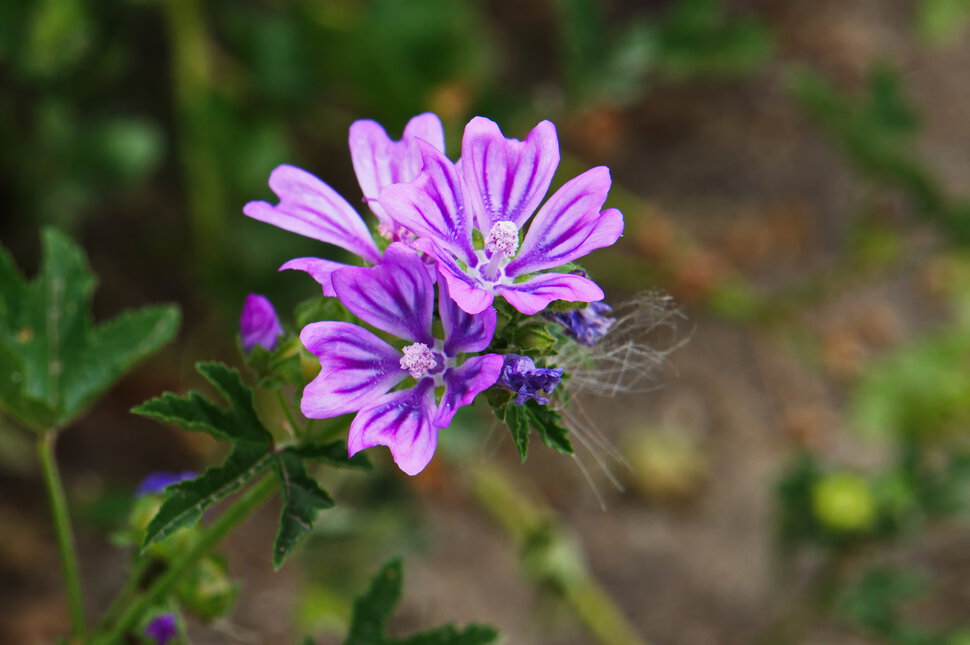
<path id="1" fill-rule="evenodd" d="M 354 602 L 344 645 L 488 645 L 498 638 L 498 632 L 483 625 L 468 625 L 462 629 L 442 625 L 407 638 L 386 636 L 385 627 L 401 599 L 402 578 L 400 560 L 384 565 L 371 581 L 367 593 Z"/>

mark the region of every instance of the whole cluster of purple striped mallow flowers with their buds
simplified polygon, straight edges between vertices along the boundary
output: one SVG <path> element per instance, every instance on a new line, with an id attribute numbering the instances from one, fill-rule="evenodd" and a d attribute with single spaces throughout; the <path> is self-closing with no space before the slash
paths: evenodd
<path id="1" fill-rule="evenodd" d="M 495 386 L 514 392 L 516 405 L 546 404 L 563 378 L 562 369 L 537 368 L 528 356 L 487 353 L 497 296 L 521 317 L 553 301 L 592 303 L 548 318 L 583 344 L 606 333 L 612 319 L 599 302 L 603 291 L 582 271 L 564 267 L 613 244 L 623 216 L 603 210 L 611 183 L 604 167 L 571 179 L 542 203 L 559 165 L 548 121 L 520 141 L 476 117 L 465 127 L 458 162 L 445 156 L 433 114 L 411 119 L 400 141 L 373 121 L 358 121 L 349 143 L 384 242 L 336 191 L 293 166 L 270 175 L 276 205 L 250 202 L 243 212 L 363 261 L 304 257 L 280 267 L 309 273 L 325 296 L 377 332 L 342 321 L 304 327 L 300 340 L 319 358 L 320 372 L 301 408 L 308 418 L 356 413 L 350 454 L 384 445 L 413 475 L 430 461 L 438 431 L 482 391 Z M 269 303 L 253 296 L 241 325 L 247 350 L 271 348 L 281 330 Z"/>

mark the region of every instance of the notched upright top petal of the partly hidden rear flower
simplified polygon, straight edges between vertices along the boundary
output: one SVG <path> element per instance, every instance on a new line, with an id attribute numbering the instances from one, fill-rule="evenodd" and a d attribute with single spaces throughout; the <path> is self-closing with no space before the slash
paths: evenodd
<path id="1" fill-rule="evenodd" d="M 350 126 L 350 157 L 364 201 L 382 221 L 389 218 L 377 197 L 391 184 L 412 181 L 421 172 L 421 153 L 414 138 L 424 139 L 438 150 L 445 150 L 445 133 L 434 114 L 419 114 L 404 128 L 404 136 L 394 141 L 376 121 L 364 119 Z"/>

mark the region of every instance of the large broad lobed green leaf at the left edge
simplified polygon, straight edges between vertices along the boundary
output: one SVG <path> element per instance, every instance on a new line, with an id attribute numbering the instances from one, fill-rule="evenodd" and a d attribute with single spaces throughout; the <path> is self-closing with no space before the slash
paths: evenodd
<path id="1" fill-rule="evenodd" d="M 28 282 L 0 248 L 0 408 L 36 430 L 61 428 L 178 330 L 176 307 L 125 312 L 100 326 L 84 252 L 53 229 Z"/>

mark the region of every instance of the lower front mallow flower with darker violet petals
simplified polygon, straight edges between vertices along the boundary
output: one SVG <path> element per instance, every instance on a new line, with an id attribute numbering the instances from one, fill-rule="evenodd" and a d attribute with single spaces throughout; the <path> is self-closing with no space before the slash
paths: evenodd
<path id="1" fill-rule="evenodd" d="M 458 364 L 459 354 L 488 347 L 495 311 L 466 314 L 439 280 L 444 338 L 435 338 L 431 275 L 418 254 L 401 243 L 388 246 L 378 266 L 335 271 L 332 282 L 347 309 L 409 344 L 397 349 L 351 323 L 307 325 L 300 340 L 320 358 L 321 369 L 303 391 L 303 414 L 320 419 L 357 412 L 347 439 L 350 455 L 384 445 L 401 470 L 416 475 L 431 461 L 437 431 L 448 427 L 458 408 L 498 378 L 498 354 L 473 356 Z M 409 377 L 413 382 L 408 387 L 392 391 Z M 439 387 L 444 388 L 440 403 L 435 396 Z"/>

